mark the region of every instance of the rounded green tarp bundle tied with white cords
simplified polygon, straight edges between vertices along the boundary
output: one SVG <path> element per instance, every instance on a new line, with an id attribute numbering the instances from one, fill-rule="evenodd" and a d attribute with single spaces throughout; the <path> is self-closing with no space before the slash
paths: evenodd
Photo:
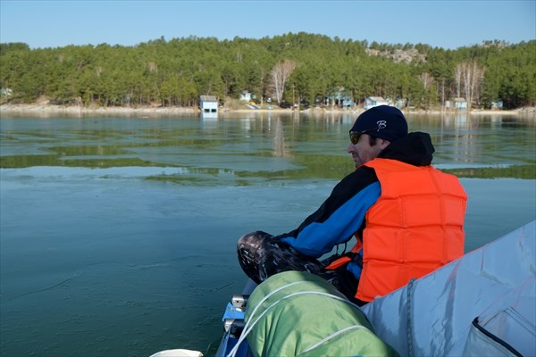
<path id="1" fill-rule="evenodd" d="M 255 356 L 398 356 L 355 305 L 324 279 L 300 271 L 255 288 L 244 333 Z"/>

